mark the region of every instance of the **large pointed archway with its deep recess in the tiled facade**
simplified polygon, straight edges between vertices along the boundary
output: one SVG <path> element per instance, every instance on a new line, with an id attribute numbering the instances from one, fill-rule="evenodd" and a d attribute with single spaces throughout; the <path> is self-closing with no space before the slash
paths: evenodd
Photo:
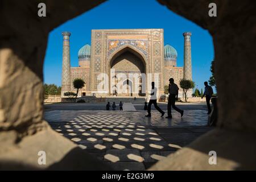
<path id="1" fill-rule="evenodd" d="M 113 88 L 113 85 L 119 88 L 117 86 L 119 81 L 123 87 L 123 83 L 129 80 L 129 83 L 126 84 L 127 88 L 129 87 L 129 92 L 127 93 L 127 89 L 117 89 L 118 96 L 142 96 L 141 92 L 146 93 L 146 77 L 142 76 L 146 74 L 146 58 L 139 50 L 131 46 L 119 48 L 110 55 L 108 66 L 110 77 L 113 75 L 115 78 L 118 77 L 118 81 L 116 79 L 109 80 L 110 88 Z M 142 77 L 145 78 L 143 82 L 141 81 Z"/>

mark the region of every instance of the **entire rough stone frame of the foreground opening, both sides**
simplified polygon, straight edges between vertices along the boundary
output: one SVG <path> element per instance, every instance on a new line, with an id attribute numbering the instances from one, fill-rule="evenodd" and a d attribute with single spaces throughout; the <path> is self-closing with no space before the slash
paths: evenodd
<path id="1" fill-rule="evenodd" d="M 255 163 L 252 162 L 255 161 L 253 160 L 255 159 L 253 152 L 256 148 L 254 141 L 256 123 L 254 122 L 255 114 L 252 106 L 256 102 L 254 97 L 255 66 L 253 66 L 255 65 L 256 53 L 254 51 L 255 42 L 247 41 L 255 37 L 253 31 L 255 24 L 254 6 L 251 6 L 249 1 L 215 0 L 217 17 L 209 17 L 208 5 L 210 1 L 197 3 L 193 0 L 158 1 L 175 13 L 209 30 L 213 36 L 220 112 L 218 113 L 218 128 L 200 137 L 188 147 L 181 149 L 179 154 L 175 153 L 169 156 L 151 169 L 255 169 Z M 2 6 L 3 11 L 0 11 L 0 17 L 3 17 L 6 22 L 2 22 L 1 31 L 3 34 L 0 37 L 0 142 L 2 146 L 0 163 L 5 164 L 2 159 L 6 156 L 5 150 L 9 150 L 9 158 L 5 158 L 9 159 L 7 168 L 33 168 L 30 166 L 31 161 L 37 159 L 31 154 L 45 147 L 50 154 L 51 152 L 52 154 L 59 154 L 48 160 L 49 164 L 59 162 L 60 158 L 65 155 L 69 155 L 69 159 L 72 158 L 72 155 L 76 155 L 71 159 L 74 163 L 81 160 L 86 160 L 89 163 L 87 166 L 82 166 L 82 169 L 104 169 L 103 164 L 92 160 L 90 156 L 82 155 L 82 152 L 77 150 L 72 142 L 56 135 L 51 130 L 48 124 L 43 121 L 42 102 L 42 67 L 48 32 L 102 2 L 104 1 L 76 1 L 73 6 L 68 6 L 65 2 L 56 0 L 47 5 L 47 12 L 54 12 L 55 16 L 44 19 L 31 16 L 31 14 L 36 14 L 38 10 L 35 1 L 13 2 L 6 0 L 2 2 L 5 6 Z M 8 9 L 9 7 L 10 9 Z M 23 11 L 20 11 L 19 7 L 24 7 Z M 31 7 L 35 7 L 35 9 Z M 242 11 L 242 16 L 241 10 L 246 10 Z M 16 18 L 17 16 L 19 19 Z M 17 22 L 20 19 L 23 19 L 22 23 Z M 16 23 L 16 27 L 19 28 L 13 28 L 9 22 Z M 28 22 L 33 22 L 33 26 L 28 27 Z M 240 24 L 243 26 L 236 27 Z M 245 49 L 241 49 L 241 47 Z M 252 89 L 245 89 L 247 85 L 252 85 Z M 233 90 L 232 94 L 230 94 L 230 90 Z M 14 102 L 20 103 L 20 101 L 22 104 L 17 104 L 20 107 L 13 105 Z M 30 142 L 27 140 L 28 138 Z M 44 142 L 40 143 L 42 139 Z M 222 142 L 221 146 L 220 141 Z M 35 144 L 34 151 L 24 151 L 22 145 L 17 149 L 19 143 Z M 59 143 L 65 143 L 65 147 Z M 219 156 L 229 160 L 219 158 L 218 162 L 220 163 L 217 166 L 206 164 L 205 161 L 208 161 L 209 156 L 204 154 L 207 154 L 207 150 L 213 147 L 219 151 Z M 234 147 L 237 147 L 236 150 L 230 150 Z M 60 153 L 56 152 L 56 148 Z M 201 152 L 196 153 L 191 150 L 192 148 Z M 14 151 L 17 150 L 20 152 L 15 153 Z M 229 150 L 232 151 L 230 156 Z M 20 156 L 20 154 L 23 155 Z M 191 164 L 184 160 L 186 155 L 191 156 Z M 65 159 L 62 162 L 64 162 L 62 165 L 60 165 L 61 163 L 59 166 L 56 164 L 55 168 L 67 169 L 66 167 L 70 163 L 67 163 L 67 160 L 65 163 Z M 44 166 L 44 168 L 46 167 L 48 166 Z M 1 168 L 4 168 L 3 165 Z M 50 167 L 50 169 L 53 168 Z"/>

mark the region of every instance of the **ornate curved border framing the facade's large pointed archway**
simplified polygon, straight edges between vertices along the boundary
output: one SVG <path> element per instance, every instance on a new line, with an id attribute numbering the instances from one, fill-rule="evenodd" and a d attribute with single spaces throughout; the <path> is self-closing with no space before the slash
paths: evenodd
<path id="1" fill-rule="evenodd" d="M 126 52 L 126 51 L 130 51 L 131 53 L 133 53 L 135 56 L 138 56 L 139 59 L 142 60 L 142 63 L 144 65 L 144 73 L 148 73 L 149 72 L 149 67 L 147 66 L 147 59 L 146 57 L 143 55 L 143 53 L 133 47 L 133 46 L 130 46 L 130 45 L 125 45 L 125 46 L 121 46 L 119 47 L 118 49 L 116 49 L 114 52 L 112 52 L 112 54 L 109 56 L 109 59 L 106 61 L 106 64 L 107 64 L 107 73 L 109 74 L 110 76 L 110 69 L 111 69 L 111 65 L 114 61 L 114 59 L 116 57 L 118 57 L 119 55 L 121 55 L 122 53 Z M 111 84 L 110 84 L 111 80 L 109 79 L 109 89 L 111 89 Z M 146 81 L 145 81 L 145 84 L 147 84 L 147 77 L 146 77 Z M 145 88 L 146 88 L 146 93 L 147 93 L 147 85 L 145 85 Z M 110 93 L 109 93 L 110 94 Z"/>

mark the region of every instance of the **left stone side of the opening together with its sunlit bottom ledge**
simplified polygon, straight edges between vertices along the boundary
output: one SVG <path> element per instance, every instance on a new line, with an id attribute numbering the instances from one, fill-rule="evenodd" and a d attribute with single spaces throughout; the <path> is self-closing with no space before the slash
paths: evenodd
<path id="1" fill-rule="evenodd" d="M 38 16 L 41 2 L 47 5 L 47 17 Z M 0 169 L 35 169 L 40 150 L 49 156 L 41 168 L 65 160 L 71 152 L 84 155 L 43 121 L 43 60 L 49 31 L 101 2 L 0 2 Z M 87 156 L 82 160 L 90 160 Z M 82 166 L 86 168 L 86 164 Z"/>

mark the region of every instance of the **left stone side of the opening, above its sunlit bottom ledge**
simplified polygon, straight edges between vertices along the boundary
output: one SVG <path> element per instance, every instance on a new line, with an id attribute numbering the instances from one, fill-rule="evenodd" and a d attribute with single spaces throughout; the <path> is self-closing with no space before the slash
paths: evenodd
<path id="1" fill-rule="evenodd" d="M 40 2 L 47 5 L 45 18 L 38 16 Z M 49 31 L 101 2 L 1 1 L 0 131 L 35 133 L 43 127 L 43 60 Z"/>

